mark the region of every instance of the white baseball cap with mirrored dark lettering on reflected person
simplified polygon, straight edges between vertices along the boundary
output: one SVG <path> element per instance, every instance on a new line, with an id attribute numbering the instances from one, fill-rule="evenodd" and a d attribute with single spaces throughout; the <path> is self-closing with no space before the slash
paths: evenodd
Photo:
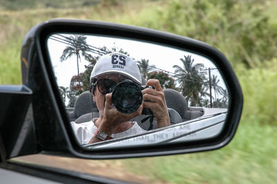
<path id="1" fill-rule="evenodd" d="M 91 71 L 90 80 L 109 73 L 125 75 L 137 84 L 141 84 L 141 72 L 136 62 L 131 57 L 122 53 L 102 55 Z"/>

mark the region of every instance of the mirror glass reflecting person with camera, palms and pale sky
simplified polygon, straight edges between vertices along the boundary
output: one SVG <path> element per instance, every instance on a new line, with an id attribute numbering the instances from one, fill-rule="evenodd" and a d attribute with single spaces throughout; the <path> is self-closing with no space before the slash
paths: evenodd
<path id="1" fill-rule="evenodd" d="M 47 42 L 60 96 L 85 147 L 201 140 L 224 125 L 229 91 L 202 55 L 102 35 L 61 33 Z"/>

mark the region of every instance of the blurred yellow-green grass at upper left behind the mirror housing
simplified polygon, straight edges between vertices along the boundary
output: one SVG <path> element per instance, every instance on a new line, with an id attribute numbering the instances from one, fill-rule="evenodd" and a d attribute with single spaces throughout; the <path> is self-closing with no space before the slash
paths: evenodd
<path id="1" fill-rule="evenodd" d="M 136 24 L 134 20 L 143 20 L 145 16 L 150 17 L 153 7 L 156 7 L 157 4 L 160 3 L 132 1 L 131 3 L 121 2 L 117 6 L 100 4 L 82 8 L 51 7 L 0 11 L 0 84 L 21 84 L 21 44 L 24 35 L 36 24 L 58 17 L 110 21 L 139 26 L 143 24 L 143 21 Z"/>

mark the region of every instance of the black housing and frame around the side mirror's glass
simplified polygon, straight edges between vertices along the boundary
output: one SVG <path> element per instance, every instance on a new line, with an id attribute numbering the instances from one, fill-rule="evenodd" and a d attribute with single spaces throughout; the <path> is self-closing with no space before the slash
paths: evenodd
<path id="1" fill-rule="evenodd" d="M 227 114 L 224 128 L 215 138 L 173 143 L 167 146 L 152 145 L 140 148 L 129 147 L 106 150 L 93 150 L 81 147 L 73 135 L 73 130 L 69 124 L 69 119 L 64 110 L 64 104 L 62 103 L 59 89 L 55 82 L 55 75 L 51 62 L 49 61 L 49 55 L 46 51 L 46 39 L 53 33 L 87 33 L 139 39 L 145 42 L 190 50 L 192 53 L 208 57 L 220 69 L 226 82 L 226 87 L 230 92 L 229 113 Z M 1 135 L 3 145 L 6 147 L 7 158 L 39 152 L 80 158 L 132 158 L 219 149 L 227 145 L 235 135 L 242 112 L 243 98 L 240 84 L 231 64 L 219 50 L 195 39 L 147 28 L 71 19 L 45 21 L 32 28 L 24 39 L 21 50 L 21 72 L 22 82 L 24 84 L 22 89 L 28 91 L 28 93 L 22 92 L 19 96 L 26 95 L 28 98 L 26 100 L 20 98 L 17 101 L 24 105 L 24 109 L 27 110 L 21 113 L 20 120 L 14 122 L 19 130 L 12 129 L 10 134 L 14 134 L 14 139 L 17 140 L 20 135 L 17 132 L 23 129 L 25 125 L 28 129 L 26 131 L 26 138 L 32 141 L 22 141 L 23 145 L 21 149 L 12 152 L 16 144 L 13 147 L 9 147 L 8 142 L 10 142 L 10 137 L 3 134 L 3 127 L 8 126 L 3 122 L 8 122 L 10 116 L 3 116 Z M 10 98 L 15 97 L 14 92 L 9 91 L 3 93 L 1 89 L 3 87 L 0 88 L 1 99 L 6 98 L 6 95 L 9 94 L 12 95 Z M 16 102 L 12 103 L 12 106 L 16 105 Z M 8 107 L 7 105 L 3 109 L 3 112 L 11 110 L 12 107 Z M 16 136 L 18 137 L 16 138 Z"/>

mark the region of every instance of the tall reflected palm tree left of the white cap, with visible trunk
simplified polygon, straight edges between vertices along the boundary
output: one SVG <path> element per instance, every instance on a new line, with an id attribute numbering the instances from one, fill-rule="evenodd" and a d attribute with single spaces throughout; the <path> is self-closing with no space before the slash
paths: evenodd
<path id="1" fill-rule="evenodd" d="M 69 57 L 75 55 L 77 61 L 77 70 L 78 70 L 78 82 L 80 85 L 80 75 L 79 75 L 79 61 L 81 62 L 82 55 L 85 59 L 89 59 L 92 56 L 88 54 L 89 45 L 87 44 L 87 37 L 84 35 L 71 35 L 70 37 L 66 37 L 66 42 L 68 42 L 69 46 L 64 48 L 62 52 L 62 56 L 60 57 L 60 62 L 65 61 Z"/>

